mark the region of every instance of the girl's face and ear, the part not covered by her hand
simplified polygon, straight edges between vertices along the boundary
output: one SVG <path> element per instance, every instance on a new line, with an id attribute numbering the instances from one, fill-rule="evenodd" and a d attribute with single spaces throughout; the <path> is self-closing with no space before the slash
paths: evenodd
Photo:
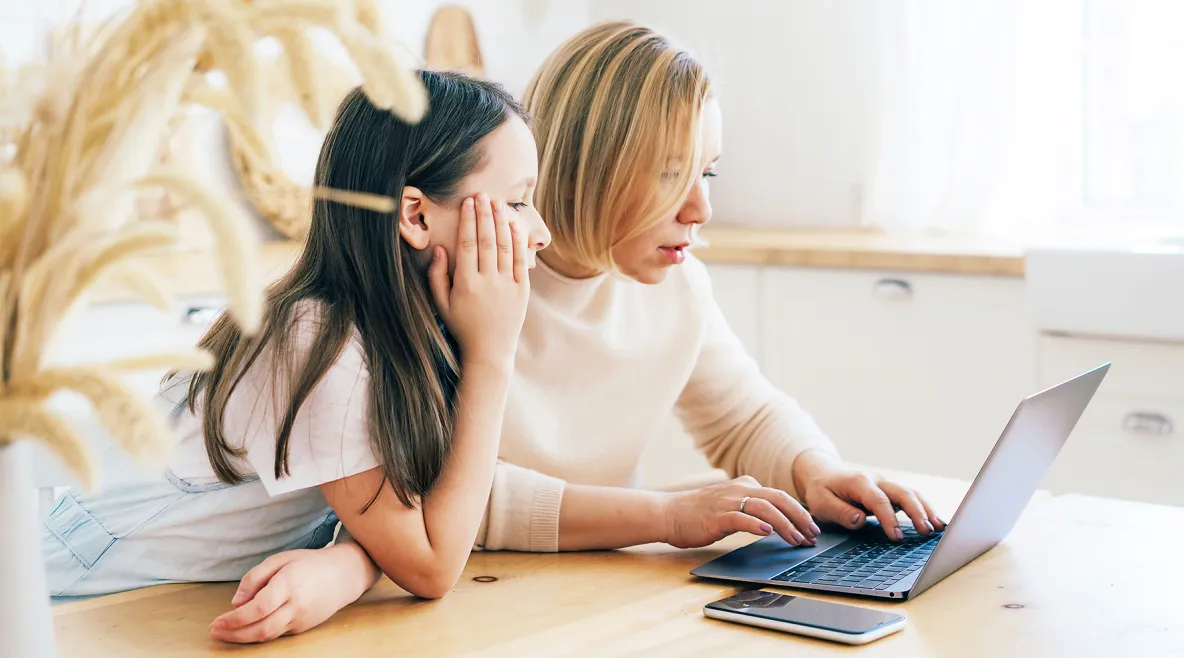
<path id="1" fill-rule="evenodd" d="M 436 245 L 449 254 L 449 271 L 456 266 L 456 236 L 461 222 L 461 205 L 465 199 L 484 192 L 490 201 L 501 202 L 511 224 L 527 230 L 530 253 L 529 267 L 535 254 L 551 244 L 551 232 L 534 208 L 534 186 L 539 178 L 539 155 L 530 129 L 517 116 L 485 135 L 481 141 L 483 161 L 461 181 L 459 193 L 445 204 L 437 204 L 419 189 L 405 187 L 400 207 L 399 233 L 411 246 L 420 250 L 426 263 Z"/>

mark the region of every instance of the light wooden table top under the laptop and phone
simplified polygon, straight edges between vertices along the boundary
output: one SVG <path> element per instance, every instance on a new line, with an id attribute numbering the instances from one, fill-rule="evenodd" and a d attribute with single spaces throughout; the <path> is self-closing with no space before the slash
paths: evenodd
<path id="1" fill-rule="evenodd" d="M 966 489 L 945 478 L 900 479 L 924 488 L 939 514 L 953 510 Z M 323 626 L 255 646 L 207 636 L 210 621 L 230 608 L 233 585 L 163 586 L 56 607 L 58 651 L 97 658 L 1184 654 L 1184 508 L 1037 496 L 1003 543 L 916 599 L 807 594 L 909 618 L 900 633 L 860 649 L 704 618 L 706 604 L 738 588 L 688 572 L 751 540 L 700 550 L 478 553 L 439 601 L 412 599 L 384 580 Z"/>

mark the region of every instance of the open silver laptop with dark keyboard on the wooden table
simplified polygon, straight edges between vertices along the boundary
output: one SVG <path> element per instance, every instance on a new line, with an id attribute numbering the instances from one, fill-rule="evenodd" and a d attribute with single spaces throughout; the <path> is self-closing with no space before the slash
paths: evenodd
<path id="1" fill-rule="evenodd" d="M 869 520 L 855 533 L 823 533 L 794 548 L 771 535 L 691 569 L 700 578 L 896 599 L 925 592 L 1011 531 L 1102 379 L 1105 363 L 1024 398 L 944 533 L 902 525 L 892 542 Z"/>

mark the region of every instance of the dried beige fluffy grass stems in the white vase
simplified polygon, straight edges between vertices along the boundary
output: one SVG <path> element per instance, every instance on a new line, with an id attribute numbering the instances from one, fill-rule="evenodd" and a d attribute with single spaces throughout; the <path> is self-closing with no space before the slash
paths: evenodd
<path id="1" fill-rule="evenodd" d="M 160 308 L 168 291 L 140 257 L 172 249 L 176 231 L 131 221 L 136 191 L 163 191 L 208 219 L 229 312 L 247 334 L 263 317 L 263 275 L 250 218 L 184 174 L 159 170 L 170 125 L 192 103 L 227 116 L 244 142 L 268 153 L 258 125 L 260 69 L 255 44 L 284 44 L 302 108 L 324 123 L 316 54 L 307 30 L 336 34 L 362 71 L 375 104 L 418 121 L 423 86 L 380 38 L 371 0 L 142 0 L 83 38 L 67 26 L 64 54 L 43 69 L 27 122 L 0 134 L 12 156 L 0 162 L 0 446 L 34 439 L 88 484 L 97 482 L 83 437 L 46 406 L 62 391 L 85 396 L 123 450 L 159 464 L 170 441 L 163 420 L 122 375 L 134 370 L 205 370 L 193 349 L 109 363 L 46 367 L 63 318 L 97 282 L 116 284 Z M 207 73 L 220 72 L 213 89 Z M 22 116 L 25 116 L 22 115 Z"/>

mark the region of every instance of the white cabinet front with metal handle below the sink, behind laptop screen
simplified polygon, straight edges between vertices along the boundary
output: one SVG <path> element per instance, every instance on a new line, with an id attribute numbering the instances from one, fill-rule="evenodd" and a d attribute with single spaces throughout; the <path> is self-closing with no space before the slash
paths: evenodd
<path id="1" fill-rule="evenodd" d="M 1184 505 L 1184 344 L 1040 338 L 1041 386 L 1106 361 L 1109 373 L 1045 486 Z"/>

